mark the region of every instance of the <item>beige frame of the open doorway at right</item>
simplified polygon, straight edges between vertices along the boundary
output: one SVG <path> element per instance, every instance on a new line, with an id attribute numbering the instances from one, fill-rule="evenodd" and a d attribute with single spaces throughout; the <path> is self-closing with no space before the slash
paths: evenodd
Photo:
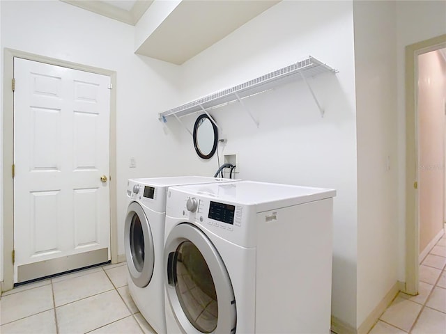
<path id="1" fill-rule="evenodd" d="M 418 181 L 418 56 L 446 47 L 446 34 L 406 46 L 406 293 L 418 293 L 420 201 Z M 417 186 L 418 187 L 418 186 Z"/>

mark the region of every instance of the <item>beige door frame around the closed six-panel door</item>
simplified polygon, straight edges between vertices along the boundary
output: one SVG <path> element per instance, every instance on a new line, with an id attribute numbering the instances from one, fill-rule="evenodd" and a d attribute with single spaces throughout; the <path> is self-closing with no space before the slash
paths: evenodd
<path id="1" fill-rule="evenodd" d="M 118 235 L 117 235 L 117 191 L 116 191 L 116 72 L 62 61 L 56 58 L 40 56 L 15 49 L 4 49 L 3 59 L 3 283 L 1 291 L 14 287 L 14 182 L 12 175 L 14 153 L 14 94 L 11 83 L 14 77 L 14 57 L 29 61 L 38 61 L 49 65 L 68 67 L 110 77 L 112 90 L 110 91 L 110 255 L 112 263 L 118 262 Z"/>

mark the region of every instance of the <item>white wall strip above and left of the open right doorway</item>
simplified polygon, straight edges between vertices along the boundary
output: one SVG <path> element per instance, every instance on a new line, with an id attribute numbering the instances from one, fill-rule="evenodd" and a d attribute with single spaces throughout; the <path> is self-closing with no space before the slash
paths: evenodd
<path id="1" fill-rule="evenodd" d="M 399 273 L 406 281 L 406 106 L 405 106 L 405 47 L 446 33 L 446 1 L 397 2 L 397 102 L 399 151 Z"/>

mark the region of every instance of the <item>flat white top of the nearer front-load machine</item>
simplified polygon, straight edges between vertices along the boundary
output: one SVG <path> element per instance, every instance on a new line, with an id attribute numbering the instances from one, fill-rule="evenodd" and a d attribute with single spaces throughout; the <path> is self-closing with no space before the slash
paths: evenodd
<path id="1" fill-rule="evenodd" d="M 279 207 L 289 207 L 336 196 L 334 189 L 254 181 L 196 184 L 176 186 L 174 189 L 186 193 L 188 196 L 214 198 L 215 200 L 230 202 L 234 205 L 255 205 L 256 212 L 264 212 Z"/>

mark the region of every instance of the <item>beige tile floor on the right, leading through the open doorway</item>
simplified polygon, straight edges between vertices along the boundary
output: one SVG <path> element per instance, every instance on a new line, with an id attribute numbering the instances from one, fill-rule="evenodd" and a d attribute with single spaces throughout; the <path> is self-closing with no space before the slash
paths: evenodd
<path id="1" fill-rule="evenodd" d="M 446 234 L 420 265 L 418 296 L 399 292 L 369 334 L 446 334 Z"/>

